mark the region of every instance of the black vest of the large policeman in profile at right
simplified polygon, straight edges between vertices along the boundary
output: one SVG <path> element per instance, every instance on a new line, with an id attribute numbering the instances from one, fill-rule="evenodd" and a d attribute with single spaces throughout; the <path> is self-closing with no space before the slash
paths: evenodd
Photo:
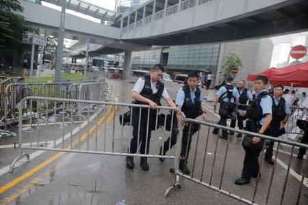
<path id="1" fill-rule="evenodd" d="M 262 98 L 264 98 L 265 96 L 268 96 L 268 92 L 266 92 L 266 91 L 261 92 L 251 102 L 251 105 L 248 106 L 247 109 L 246 109 L 246 118 L 259 121 L 264 117 L 260 103 L 261 103 Z"/>

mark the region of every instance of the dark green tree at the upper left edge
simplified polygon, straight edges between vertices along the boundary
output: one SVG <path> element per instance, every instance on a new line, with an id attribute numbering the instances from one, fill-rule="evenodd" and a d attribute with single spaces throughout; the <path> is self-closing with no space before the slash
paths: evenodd
<path id="1" fill-rule="evenodd" d="M 13 13 L 23 12 L 23 7 L 18 0 L 0 1 L 0 55 L 11 61 L 12 54 L 22 42 L 22 35 L 25 31 L 33 31 L 23 16 Z M 8 57 L 10 60 L 8 60 Z"/>

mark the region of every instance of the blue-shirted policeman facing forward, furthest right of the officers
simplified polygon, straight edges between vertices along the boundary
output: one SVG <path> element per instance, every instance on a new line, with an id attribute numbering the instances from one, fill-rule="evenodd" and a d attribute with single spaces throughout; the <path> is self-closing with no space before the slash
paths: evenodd
<path id="1" fill-rule="evenodd" d="M 290 115 L 290 105 L 285 98 L 282 97 L 283 85 L 274 85 L 274 97 L 272 98 L 272 122 L 270 122 L 270 130 L 272 137 L 279 137 L 283 133 L 287 118 Z M 270 146 L 266 149 L 264 160 L 271 165 L 274 165 L 272 160 L 272 149 L 274 148 L 274 141 L 270 141 Z"/>

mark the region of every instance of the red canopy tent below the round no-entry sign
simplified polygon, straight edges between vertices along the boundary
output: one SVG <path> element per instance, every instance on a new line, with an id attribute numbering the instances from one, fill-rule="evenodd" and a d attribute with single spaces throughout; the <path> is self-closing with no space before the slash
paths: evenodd
<path id="1" fill-rule="evenodd" d="M 258 74 L 268 77 L 272 85 L 290 86 L 293 83 L 293 87 L 308 87 L 308 62 L 287 68 L 270 68 Z M 253 81 L 258 74 L 248 74 L 247 80 Z"/>

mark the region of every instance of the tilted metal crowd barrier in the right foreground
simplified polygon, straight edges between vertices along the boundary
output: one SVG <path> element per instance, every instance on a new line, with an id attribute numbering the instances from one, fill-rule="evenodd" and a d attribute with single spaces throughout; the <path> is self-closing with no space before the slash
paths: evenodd
<path id="1" fill-rule="evenodd" d="M 303 190 L 307 191 L 308 188 L 308 179 L 305 177 L 308 172 L 308 158 L 305 161 L 300 161 L 304 165 L 302 169 L 297 170 L 299 172 L 297 174 L 298 179 L 290 175 L 290 172 L 294 173 L 291 170 L 291 165 L 298 163 L 294 162 L 292 164 L 294 160 L 293 152 L 298 147 L 307 150 L 307 145 L 191 119 L 182 120 L 179 128 L 187 122 L 193 122 L 201 126 L 196 136 L 192 137 L 190 159 L 187 162 L 192 172 L 190 175 L 185 175 L 179 170 L 179 153 L 181 152 L 181 141 L 179 141 L 180 143 L 177 143 L 177 157 L 175 158 L 175 181 L 172 187 L 166 190 L 165 196 L 168 196 L 171 189 L 181 188 L 179 181 L 181 177 L 232 197 L 240 202 L 244 202 L 245 204 L 277 204 L 274 199 L 278 200 L 280 204 L 307 204 L 307 192 L 303 192 Z M 275 141 L 277 151 L 273 156 L 274 165 L 271 165 L 271 167 L 263 165 L 264 150 L 266 149 L 266 140 L 264 140 L 264 148 L 260 153 L 261 157 L 259 157 L 260 169 L 257 178 L 255 180 L 252 178 L 251 184 L 248 185 L 239 186 L 234 184 L 235 179 L 241 176 L 244 162 L 244 149 L 233 150 L 233 153 L 231 153 L 229 150 L 233 149 L 233 144 L 231 144 L 230 137 L 228 140 L 222 140 L 219 139 L 218 135 L 211 136 L 209 135 L 212 131 L 211 128 L 224 128 L 235 133 L 253 135 L 262 139 Z M 182 135 L 182 133 L 180 132 L 179 135 Z M 286 156 L 285 151 L 279 149 L 282 144 L 287 144 L 291 147 L 290 156 Z M 286 170 L 283 171 L 282 176 L 281 172 L 278 173 L 279 171 L 277 170 L 277 167 L 279 167 L 277 162 L 281 162 L 277 156 L 279 158 L 283 157 L 284 161 L 287 161 L 287 165 L 285 165 Z M 306 187 L 303 185 L 304 181 Z"/>

